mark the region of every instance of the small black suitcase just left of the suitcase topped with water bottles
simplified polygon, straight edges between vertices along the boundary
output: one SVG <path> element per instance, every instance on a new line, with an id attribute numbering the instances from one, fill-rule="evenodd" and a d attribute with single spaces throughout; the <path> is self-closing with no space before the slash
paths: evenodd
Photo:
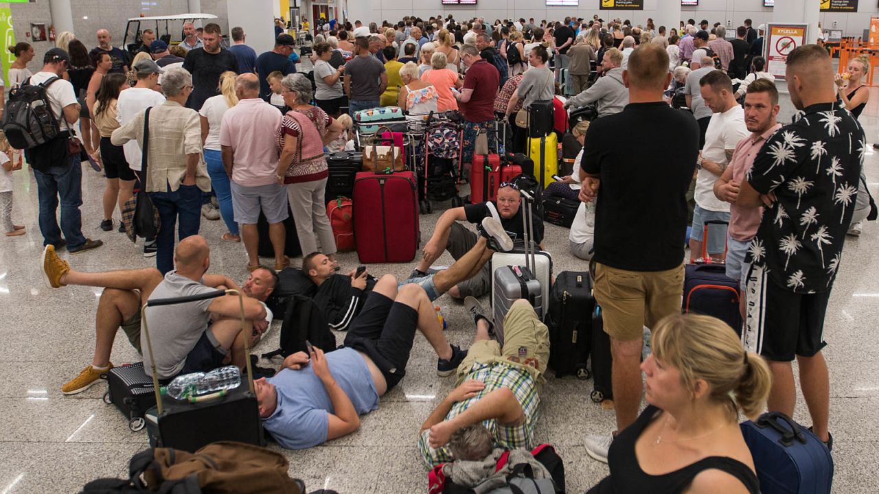
<path id="1" fill-rule="evenodd" d="M 128 418 L 128 428 L 132 432 L 140 431 L 144 425 L 143 415 L 156 406 L 153 380 L 143 372 L 143 363 L 113 367 L 101 374 L 101 379 L 107 381 L 104 403 L 116 405 Z"/>

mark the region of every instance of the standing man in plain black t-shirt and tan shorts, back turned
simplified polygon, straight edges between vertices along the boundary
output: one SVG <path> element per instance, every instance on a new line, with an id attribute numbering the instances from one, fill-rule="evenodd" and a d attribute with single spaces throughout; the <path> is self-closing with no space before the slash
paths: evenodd
<path id="1" fill-rule="evenodd" d="M 580 199 L 597 200 L 592 275 L 614 358 L 617 432 L 635 422 L 641 403 L 643 327 L 680 314 L 684 288 L 681 236 L 699 126 L 663 101 L 672 77 L 668 62 L 660 45 L 637 47 L 623 72 L 629 104 L 593 121 L 583 147 Z M 586 451 L 607 461 L 612 441 L 611 434 L 589 436 Z"/>

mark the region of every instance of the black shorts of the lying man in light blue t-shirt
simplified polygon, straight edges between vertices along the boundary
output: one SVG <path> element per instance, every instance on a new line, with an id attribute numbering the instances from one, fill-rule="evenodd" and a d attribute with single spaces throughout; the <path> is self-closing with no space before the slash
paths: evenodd
<path id="1" fill-rule="evenodd" d="M 417 310 L 370 292 L 345 335 L 345 346 L 366 353 L 384 375 L 390 390 L 406 375 L 417 328 Z"/>

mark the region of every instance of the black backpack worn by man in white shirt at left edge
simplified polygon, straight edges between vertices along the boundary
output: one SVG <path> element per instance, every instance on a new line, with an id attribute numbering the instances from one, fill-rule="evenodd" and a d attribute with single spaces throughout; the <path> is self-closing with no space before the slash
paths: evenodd
<path id="1" fill-rule="evenodd" d="M 61 126 L 47 98 L 48 87 L 57 80 L 57 76 L 52 76 L 42 84 L 33 85 L 28 78 L 10 91 L 0 127 L 12 148 L 36 148 L 61 134 Z"/>

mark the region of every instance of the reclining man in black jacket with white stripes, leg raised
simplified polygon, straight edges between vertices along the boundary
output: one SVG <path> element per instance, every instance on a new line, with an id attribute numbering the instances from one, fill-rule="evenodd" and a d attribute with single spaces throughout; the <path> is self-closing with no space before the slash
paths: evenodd
<path id="1" fill-rule="evenodd" d="M 481 233 L 478 236 L 457 223 L 455 225 L 467 232 L 462 236 L 475 237 L 470 242 L 469 251 L 464 252 L 447 269 L 429 274 L 418 273 L 420 276 L 406 280 L 406 283 L 415 283 L 424 288 L 430 301 L 438 299 L 459 283 L 476 277 L 494 252 L 512 249 L 512 239 L 506 234 L 503 224 L 491 216 L 482 219 L 479 229 Z M 366 271 L 355 278 L 356 270 L 349 275 L 336 274 L 334 267 L 335 263 L 320 252 L 314 252 L 302 259 L 302 272 L 316 285 L 313 298 L 326 314 L 331 329 L 345 331 L 360 313 L 374 281 L 367 279 Z"/>

